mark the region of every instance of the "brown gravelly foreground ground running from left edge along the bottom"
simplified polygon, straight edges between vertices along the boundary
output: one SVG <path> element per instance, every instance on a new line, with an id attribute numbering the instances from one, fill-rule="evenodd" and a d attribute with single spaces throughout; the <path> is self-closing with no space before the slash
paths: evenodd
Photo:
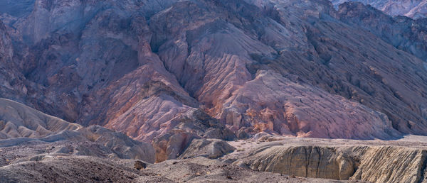
<path id="1" fill-rule="evenodd" d="M 43 143 L 0 148 L 0 182 L 337 182 L 258 172 L 223 159 L 192 157 L 149 164 L 106 155 L 50 153 L 75 143 Z M 94 144 L 83 146 L 95 152 Z M 147 167 L 137 170 L 136 162 Z"/>

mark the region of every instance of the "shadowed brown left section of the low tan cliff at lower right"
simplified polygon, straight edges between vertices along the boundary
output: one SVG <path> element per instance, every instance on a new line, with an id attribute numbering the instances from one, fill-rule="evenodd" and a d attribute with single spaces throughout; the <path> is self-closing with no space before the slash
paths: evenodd
<path id="1" fill-rule="evenodd" d="M 349 179 L 354 173 L 354 161 L 332 148 L 272 147 L 260 149 L 253 162 L 246 162 L 253 170 L 293 174 L 299 177 Z"/>

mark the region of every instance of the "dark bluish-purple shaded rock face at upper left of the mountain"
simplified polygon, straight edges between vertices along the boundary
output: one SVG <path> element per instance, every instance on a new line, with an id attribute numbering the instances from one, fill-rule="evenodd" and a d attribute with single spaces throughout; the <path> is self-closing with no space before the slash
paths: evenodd
<path id="1" fill-rule="evenodd" d="M 68 121 L 83 118 L 78 113 L 83 96 L 149 60 L 145 16 L 173 2 L 36 1 L 32 13 L 9 29 L 15 46 L 25 50 L 16 52 L 15 62 L 27 79 L 47 87 L 48 98 L 38 99 L 46 106 L 21 101 Z"/>

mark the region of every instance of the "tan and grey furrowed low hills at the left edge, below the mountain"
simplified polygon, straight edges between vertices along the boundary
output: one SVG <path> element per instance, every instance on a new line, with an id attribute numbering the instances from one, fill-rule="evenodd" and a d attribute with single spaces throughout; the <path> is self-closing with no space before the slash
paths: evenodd
<path id="1" fill-rule="evenodd" d="M 154 162 L 151 144 L 132 140 L 123 133 L 101 126 L 83 128 L 8 99 L 0 99 L 0 109 L 0 147 L 10 148 L 2 150 L 2 156 L 63 153 Z M 46 150 L 14 150 L 16 146 L 28 144 L 42 144 Z"/>

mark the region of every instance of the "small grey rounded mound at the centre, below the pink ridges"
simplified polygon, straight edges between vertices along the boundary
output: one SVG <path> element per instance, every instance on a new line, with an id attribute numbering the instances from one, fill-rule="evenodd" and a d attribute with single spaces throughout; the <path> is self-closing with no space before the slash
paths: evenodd
<path id="1" fill-rule="evenodd" d="M 216 159 L 228 153 L 233 152 L 236 148 L 218 139 L 194 139 L 179 159 L 188 159 L 191 157 L 208 157 Z"/>

